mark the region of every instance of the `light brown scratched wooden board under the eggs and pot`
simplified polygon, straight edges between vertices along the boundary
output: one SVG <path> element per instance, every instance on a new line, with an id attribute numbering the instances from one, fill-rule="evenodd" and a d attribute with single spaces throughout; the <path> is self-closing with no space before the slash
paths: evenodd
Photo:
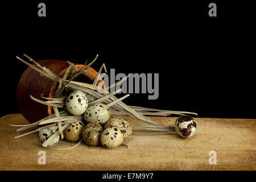
<path id="1" fill-rule="evenodd" d="M 133 125 L 146 125 L 131 117 L 125 119 Z M 151 119 L 171 125 L 176 118 Z M 125 141 L 129 148 L 81 143 L 63 151 L 40 146 L 37 133 L 14 139 L 19 135 L 17 127 L 8 124 L 28 122 L 21 114 L 6 115 L 0 119 L 0 170 L 256 170 L 256 119 L 195 119 L 197 131 L 189 139 L 133 128 Z M 55 147 L 74 145 L 61 140 Z M 38 164 L 39 151 L 46 152 L 46 164 Z M 209 164 L 214 157 L 210 151 L 216 152 L 216 164 Z"/>

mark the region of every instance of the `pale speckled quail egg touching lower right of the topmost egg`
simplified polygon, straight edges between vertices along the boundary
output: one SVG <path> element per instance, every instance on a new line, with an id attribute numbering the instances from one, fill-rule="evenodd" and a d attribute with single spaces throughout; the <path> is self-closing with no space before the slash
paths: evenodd
<path id="1" fill-rule="evenodd" d="M 88 123 L 106 123 L 110 118 L 109 107 L 105 104 L 93 104 L 84 113 L 84 119 Z"/>

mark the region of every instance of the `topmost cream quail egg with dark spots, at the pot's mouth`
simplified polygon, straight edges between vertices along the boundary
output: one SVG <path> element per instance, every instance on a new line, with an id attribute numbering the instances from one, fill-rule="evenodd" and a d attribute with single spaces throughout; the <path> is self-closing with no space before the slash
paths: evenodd
<path id="1" fill-rule="evenodd" d="M 75 90 L 69 94 L 65 105 L 70 114 L 81 115 L 88 107 L 88 100 L 84 92 Z"/>

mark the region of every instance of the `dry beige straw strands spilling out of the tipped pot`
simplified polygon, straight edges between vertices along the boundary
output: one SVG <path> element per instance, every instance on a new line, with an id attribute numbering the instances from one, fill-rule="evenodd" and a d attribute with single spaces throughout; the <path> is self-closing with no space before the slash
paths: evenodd
<path id="1" fill-rule="evenodd" d="M 162 130 L 162 131 L 172 131 L 173 130 L 172 127 L 162 126 L 159 123 L 151 121 L 151 119 L 148 118 L 147 115 L 155 115 L 155 116 L 168 116 L 171 114 L 178 114 L 178 115 L 194 114 L 194 115 L 197 115 L 196 113 L 191 113 L 191 112 L 187 112 L 187 111 L 159 110 L 159 109 L 152 109 L 152 108 L 146 108 L 146 107 L 126 105 L 124 102 L 122 102 L 122 100 L 124 98 L 128 97 L 129 94 L 118 99 L 117 97 L 115 97 L 115 94 L 119 93 L 122 88 L 116 90 L 114 93 L 109 93 L 108 89 L 113 88 L 113 86 L 116 86 L 118 84 L 121 84 L 121 82 L 125 81 L 126 78 L 128 78 L 129 76 L 123 78 L 122 80 L 119 80 L 118 82 L 116 82 L 113 85 L 110 85 L 108 88 L 105 88 L 103 90 L 105 93 L 104 95 L 99 93 L 98 90 L 101 90 L 101 89 L 98 88 L 99 86 L 97 85 L 97 82 L 100 79 L 100 73 L 102 71 L 102 68 L 104 68 L 105 72 L 106 72 L 105 64 L 102 64 L 93 84 L 87 84 L 84 82 L 73 81 L 77 76 L 86 72 L 86 69 L 89 68 L 94 63 L 94 61 L 97 60 L 98 55 L 88 65 L 86 65 L 86 63 L 87 63 L 87 61 L 86 61 L 86 63 L 84 64 L 84 66 L 81 69 L 78 69 L 77 67 L 75 67 L 75 65 L 73 63 L 67 61 L 67 63 L 69 64 L 69 67 L 68 67 L 67 71 L 65 72 L 63 78 L 55 75 L 48 68 L 42 67 L 40 64 L 36 63 L 36 61 L 31 59 L 31 57 L 29 57 L 27 55 L 24 55 L 24 56 L 27 57 L 28 60 L 35 63 L 35 65 L 27 63 L 27 61 L 20 59 L 18 56 L 16 56 L 16 58 L 18 60 L 22 61 L 22 63 L 27 64 L 28 67 L 31 67 L 32 69 L 35 69 L 36 71 L 38 71 L 41 76 L 46 77 L 49 80 L 58 82 L 59 86 L 57 87 L 57 90 L 55 91 L 55 96 L 53 98 L 46 98 L 46 97 L 41 96 L 42 98 L 45 98 L 48 101 L 38 100 L 38 99 L 34 98 L 33 96 L 30 96 L 32 100 L 39 102 L 40 104 L 52 106 L 55 114 L 49 115 L 48 117 L 43 118 L 40 121 L 31 123 L 28 125 L 11 125 L 11 126 L 18 126 L 18 127 L 21 126 L 21 128 L 16 130 L 17 132 L 36 127 L 36 129 L 34 129 L 28 133 L 18 135 L 15 138 L 23 137 L 25 135 L 35 133 L 42 129 L 48 128 L 48 129 L 52 130 L 54 132 L 54 134 L 43 143 L 43 147 L 47 147 L 48 144 L 51 143 L 52 140 L 54 140 L 59 134 L 61 135 L 61 139 L 63 139 L 63 130 L 65 129 L 65 127 L 68 126 L 68 123 L 72 123 L 74 121 L 82 119 L 82 115 L 78 115 L 78 116 L 71 115 L 65 110 L 65 100 L 67 98 L 64 94 L 65 89 L 82 90 L 83 92 L 85 92 L 86 97 L 88 97 L 89 106 L 94 103 L 99 103 L 99 102 L 111 106 L 110 113 L 112 114 L 112 117 L 129 115 L 130 117 L 134 117 L 134 118 L 140 119 L 146 123 L 150 123 L 151 125 L 154 125 L 154 126 L 134 126 L 134 127 L 141 127 L 144 129 L 148 128 L 148 129 L 155 129 L 155 130 Z M 71 67 L 75 68 L 74 73 L 69 72 Z M 40 125 L 44 125 L 44 126 L 40 126 Z"/>

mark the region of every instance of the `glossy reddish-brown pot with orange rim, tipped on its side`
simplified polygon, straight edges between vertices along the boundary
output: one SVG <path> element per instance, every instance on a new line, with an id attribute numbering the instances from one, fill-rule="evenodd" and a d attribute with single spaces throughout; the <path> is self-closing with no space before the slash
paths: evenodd
<path id="1" fill-rule="evenodd" d="M 55 73 L 57 76 L 63 77 L 67 71 L 69 64 L 66 61 L 44 59 L 37 61 L 42 67 L 46 67 Z M 33 64 L 35 65 L 35 64 Z M 77 68 L 82 68 L 84 65 L 75 64 Z M 70 69 L 75 72 L 74 68 Z M 75 81 L 85 82 L 92 84 L 97 76 L 97 72 L 93 68 L 88 68 L 87 71 L 78 76 Z M 41 97 L 52 98 L 57 87 L 57 82 L 51 81 L 48 78 L 40 76 L 38 71 L 28 67 L 20 77 L 17 89 L 17 101 L 19 110 L 23 117 L 28 122 L 34 123 L 52 114 L 52 107 L 39 104 L 30 98 L 30 95 L 38 98 L 39 100 L 47 101 Z"/>

